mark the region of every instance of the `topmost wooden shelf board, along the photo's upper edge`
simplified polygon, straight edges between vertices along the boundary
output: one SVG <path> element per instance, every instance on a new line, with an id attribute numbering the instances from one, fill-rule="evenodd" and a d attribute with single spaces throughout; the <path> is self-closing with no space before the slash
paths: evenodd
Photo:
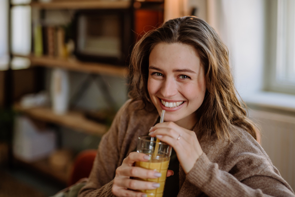
<path id="1" fill-rule="evenodd" d="M 126 9 L 130 7 L 130 0 L 59 0 L 30 5 L 42 9 Z"/>

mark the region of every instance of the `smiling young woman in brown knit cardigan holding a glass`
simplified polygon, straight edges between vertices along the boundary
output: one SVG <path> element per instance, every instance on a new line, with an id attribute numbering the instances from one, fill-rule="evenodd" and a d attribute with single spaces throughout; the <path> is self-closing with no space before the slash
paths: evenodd
<path id="1" fill-rule="evenodd" d="M 131 178 L 162 176 L 134 166 L 150 159 L 134 152 L 138 136 L 148 134 L 176 153 L 164 196 L 295 197 L 257 142 L 259 131 L 236 96 L 227 48 L 205 21 L 177 18 L 146 33 L 129 69 L 131 99 L 103 136 L 79 197 L 147 197 L 135 190 L 159 187 Z M 157 123 L 163 109 L 165 122 Z"/>

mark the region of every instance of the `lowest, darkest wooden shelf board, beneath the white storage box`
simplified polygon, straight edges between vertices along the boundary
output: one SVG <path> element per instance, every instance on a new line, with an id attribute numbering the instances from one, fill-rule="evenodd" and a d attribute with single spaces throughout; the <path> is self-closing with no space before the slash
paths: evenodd
<path id="1" fill-rule="evenodd" d="M 26 168 L 30 168 L 33 171 L 37 171 L 46 177 L 49 177 L 51 179 L 55 179 L 62 185 L 67 185 L 69 181 L 69 170 L 58 170 L 54 169 L 48 162 L 48 159 L 39 160 L 36 162 L 27 162 L 20 158 L 14 157 L 14 161 L 17 164 L 20 164 Z"/>

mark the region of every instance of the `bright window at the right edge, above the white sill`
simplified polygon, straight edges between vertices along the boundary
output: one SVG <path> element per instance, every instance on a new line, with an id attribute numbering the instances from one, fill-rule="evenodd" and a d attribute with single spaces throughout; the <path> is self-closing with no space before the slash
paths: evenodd
<path id="1" fill-rule="evenodd" d="M 269 90 L 295 94 L 295 0 L 277 0 L 271 15 Z"/>

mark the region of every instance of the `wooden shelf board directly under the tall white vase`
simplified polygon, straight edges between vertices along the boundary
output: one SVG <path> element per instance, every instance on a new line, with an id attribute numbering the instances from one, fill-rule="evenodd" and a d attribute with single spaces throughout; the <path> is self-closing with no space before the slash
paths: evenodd
<path id="1" fill-rule="evenodd" d="M 82 131 L 93 135 L 102 136 L 108 131 L 108 127 L 103 124 L 88 120 L 81 112 L 68 112 L 65 115 L 57 115 L 49 107 L 23 108 L 16 103 L 14 109 L 29 115 L 36 120 L 54 123 L 65 126 L 76 131 Z"/>

